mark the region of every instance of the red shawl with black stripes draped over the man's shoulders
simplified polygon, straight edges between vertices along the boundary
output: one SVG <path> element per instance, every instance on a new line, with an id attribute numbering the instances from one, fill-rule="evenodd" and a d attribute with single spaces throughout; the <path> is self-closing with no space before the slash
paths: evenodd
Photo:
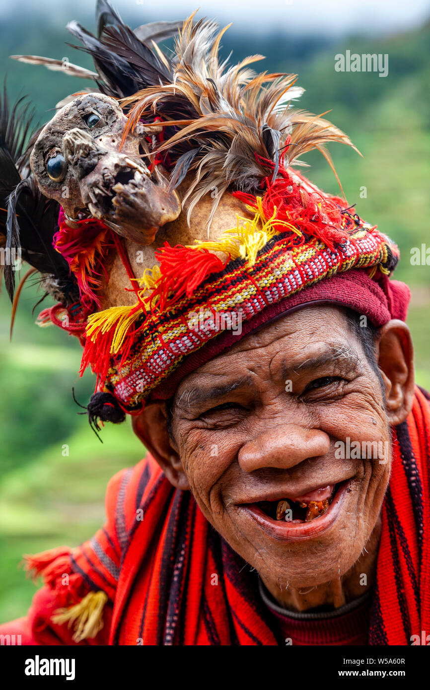
<path id="1" fill-rule="evenodd" d="M 411 414 L 393 429 L 369 644 L 410 645 L 411 635 L 430 631 L 429 443 L 429 402 L 416 388 Z M 72 631 L 50 621 L 52 611 L 66 598 L 71 604 L 103 589 L 109 598 L 104 627 L 80 644 L 284 644 L 256 573 L 153 458 L 110 480 L 106 514 L 104 528 L 69 555 L 60 549 L 34 557 L 48 584 L 28 616 L 0 633 L 21 634 L 22 644 L 73 644 Z M 58 573 L 66 563 L 64 589 Z"/>

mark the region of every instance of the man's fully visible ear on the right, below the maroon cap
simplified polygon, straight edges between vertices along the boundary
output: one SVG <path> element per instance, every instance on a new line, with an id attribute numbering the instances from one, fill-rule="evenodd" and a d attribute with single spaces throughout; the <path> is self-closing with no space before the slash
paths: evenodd
<path id="1" fill-rule="evenodd" d="M 392 319 L 377 337 L 378 367 L 387 398 L 389 424 L 404 422 L 412 409 L 415 375 L 411 331 L 403 321 Z"/>

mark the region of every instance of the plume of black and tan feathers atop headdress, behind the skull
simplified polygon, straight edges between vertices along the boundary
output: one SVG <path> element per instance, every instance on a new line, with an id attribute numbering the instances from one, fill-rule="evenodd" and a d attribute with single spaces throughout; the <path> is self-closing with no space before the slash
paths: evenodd
<path id="1" fill-rule="evenodd" d="M 76 21 L 68 23 L 68 30 L 83 43 L 73 47 L 88 52 L 97 71 L 70 63 L 63 71 L 94 79 L 102 93 L 121 99 L 129 113 L 124 137 L 141 121 L 157 129 L 163 125 L 159 152 L 168 152 L 172 163 L 171 186 L 180 184 L 188 171 L 196 173 L 183 199 L 188 219 L 199 199 L 213 193 L 210 224 L 228 187 L 261 190 L 266 177 L 276 179 L 281 157 L 285 167 L 305 165 L 300 157 L 316 148 L 334 171 L 326 144 L 353 146 L 329 121 L 291 108 L 303 92 L 295 86 L 297 75 L 255 74 L 249 66 L 262 55 L 233 66 L 220 61 L 219 46 L 228 27 L 218 32 L 213 21 L 193 23 L 194 13 L 184 23 L 154 22 L 133 31 L 106 0 L 98 0 L 96 13 L 98 37 Z M 162 52 L 157 41 L 173 35 L 173 54 Z M 48 58 L 12 57 L 61 69 L 59 61 Z"/>

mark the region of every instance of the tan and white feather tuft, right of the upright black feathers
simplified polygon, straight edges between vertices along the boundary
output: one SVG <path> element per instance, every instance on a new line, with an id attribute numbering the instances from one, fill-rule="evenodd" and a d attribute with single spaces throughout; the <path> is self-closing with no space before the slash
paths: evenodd
<path id="1" fill-rule="evenodd" d="M 175 160 L 173 186 L 189 170 L 196 172 L 184 197 L 184 203 L 189 201 L 188 219 L 199 199 L 216 190 L 210 222 L 230 186 L 261 191 L 266 177 L 276 179 L 280 160 L 284 167 L 301 165 L 300 156 L 313 148 L 333 168 L 325 144 L 353 145 L 328 121 L 291 108 L 291 101 L 303 92 L 295 86 L 297 75 L 256 75 L 249 65 L 262 55 L 233 66 L 228 60 L 220 62 L 219 45 L 228 27 L 217 33 L 215 23 L 193 23 L 193 17 L 184 22 L 175 39 L 174 57 L 166 61 L 170 83 L 160 81 L 121 101 L 130 108 L 128 128 L 154 115 L 166 127 L 179 128 L 159 151 L 168 150 Z"/>

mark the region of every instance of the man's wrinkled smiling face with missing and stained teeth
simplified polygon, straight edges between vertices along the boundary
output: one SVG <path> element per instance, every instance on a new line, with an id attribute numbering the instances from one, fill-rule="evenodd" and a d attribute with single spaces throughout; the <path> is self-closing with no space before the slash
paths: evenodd
<path id="1" fill-rule="evenodd" d="M 342 311 L 302 308 L 188 375 L 172 428 L 200 509 L 264 580 L 313 586 L 358 560 L 391 436 L 380 379 Z"/>

